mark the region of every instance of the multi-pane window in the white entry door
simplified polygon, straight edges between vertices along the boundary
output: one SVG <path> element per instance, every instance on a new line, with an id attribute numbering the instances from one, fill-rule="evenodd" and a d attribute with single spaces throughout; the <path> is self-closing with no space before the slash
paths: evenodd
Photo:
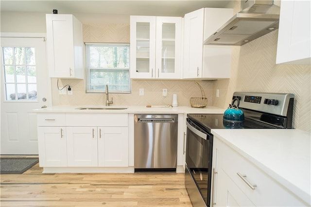
<path id="1" fill-rule="evenodd" d="M 35 48 L 3 47 L 6 101 L 37 101 Z"/>

